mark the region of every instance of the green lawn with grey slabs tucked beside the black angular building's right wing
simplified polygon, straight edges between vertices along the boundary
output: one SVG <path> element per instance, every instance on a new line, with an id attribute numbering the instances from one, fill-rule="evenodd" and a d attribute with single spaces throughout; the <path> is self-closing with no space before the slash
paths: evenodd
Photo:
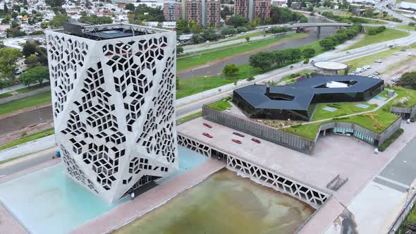
<path id="1" fill-rule="evenodd" d="M 355 106 L 357 104 L 364 104 L 369 107 L 367 109 L 362 109 L 360 107 Z M 323 108 L 326 106 L 336 108 L 337 110 L 334 112 L 325 111 L 323 110 Z M 319 120 L 326 119 L 326 118 L 346 116 L 352 113 L 371 111 L 376 107 L 377 107 L 377 104 L 368 104 L 367 102 L 343 102 L 343 103 L 334 103 L 334 104 L 320 103 L 320 104 L 317 104 L 317 107 L 315 108 L 314 116 L 312 116 L 312 121 L 319 121 Z"/>

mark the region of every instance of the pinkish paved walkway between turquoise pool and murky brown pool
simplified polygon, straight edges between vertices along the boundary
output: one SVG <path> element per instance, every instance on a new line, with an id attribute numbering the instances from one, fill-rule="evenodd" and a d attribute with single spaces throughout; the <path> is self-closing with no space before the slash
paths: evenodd
<path id="1" fill-rule="evenodd" d="M 125 202 L 99 218 L 76 228 L 73 233 L 110 233 L 112 230 L 133 221 L 134 218 L 159 207 L 188 188 L 197 185 L 197 183 L 225 166 L 226 164 L 223 161 L 209 159 L 204 164 L 169 180 L 169 183 L 154 187 L 152 190 L 136 197 L 133 201 Z"/>

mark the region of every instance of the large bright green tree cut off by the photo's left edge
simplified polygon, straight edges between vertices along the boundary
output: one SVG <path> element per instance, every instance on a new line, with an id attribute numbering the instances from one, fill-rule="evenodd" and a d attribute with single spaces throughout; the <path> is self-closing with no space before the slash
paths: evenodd
<path id="1" fill-rule="evenodd" d="M 18 49 L 11 49 L 4 47 L 0 49 L 0 74 L 1 78 L 10 79 L 14 85 L 16 82 L 16 75 L 14 69 L 16 68 L 16 61 L 22 56 Z"/>

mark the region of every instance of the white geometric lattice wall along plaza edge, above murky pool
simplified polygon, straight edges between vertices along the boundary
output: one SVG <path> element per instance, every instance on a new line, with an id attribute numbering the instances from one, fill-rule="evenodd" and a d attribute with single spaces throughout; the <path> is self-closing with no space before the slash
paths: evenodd
<path id="1" fill-rule="evenodd" d="M 223 156 L 226 156 L 227 168 L 229 170 L 242 173 L 243 176 L 247 176 L 261 185 L 300 199 L 302 202 L 310 204 L 314 209 L 319 209 L 331 197 L 330 192 L 326 192 L 319 187 L 303 183 L 291 176 L 279 173 L 265 165 L 259 165 L 255 161 L 244 159 L 211 144 L 199 142 L 189 135 L 178 132 L 178 144 L 196 152 L 202 152 L 202 154 L 209 157 L 214 155 L 214 152 L 221 153 Z"/>

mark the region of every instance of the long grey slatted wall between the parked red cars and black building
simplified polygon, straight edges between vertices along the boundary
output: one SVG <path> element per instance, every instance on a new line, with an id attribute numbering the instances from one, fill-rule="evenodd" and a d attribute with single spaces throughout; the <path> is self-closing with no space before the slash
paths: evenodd
<path id="1" fill-rule="evenodd" d="M 209 109 L 207 106 L 202 106 L 202 118 L 305 154 L 310 154 L 314 147 L 314 141 L 312 140 L 261 123 L 255 123 L 231 113 Z"/>

